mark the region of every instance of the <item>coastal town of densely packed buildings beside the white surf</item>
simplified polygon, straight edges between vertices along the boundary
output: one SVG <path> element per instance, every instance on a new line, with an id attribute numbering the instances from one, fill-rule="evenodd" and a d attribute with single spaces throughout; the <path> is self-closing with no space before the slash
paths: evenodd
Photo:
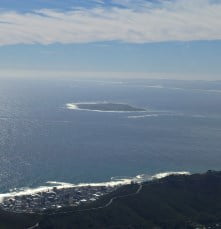
<path id="1" fill-rule="evenodd" d="M 16 213 L 37 213 L 67 206 L 90 203 L 114 191 L 117 186 L 76 186 L 69 188 L 53 187 L 32 194 L 5 197 L 0 207 Z"/>

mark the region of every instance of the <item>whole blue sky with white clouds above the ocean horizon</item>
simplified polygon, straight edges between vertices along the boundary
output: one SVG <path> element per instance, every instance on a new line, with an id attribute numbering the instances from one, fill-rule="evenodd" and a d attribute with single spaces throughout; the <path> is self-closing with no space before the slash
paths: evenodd
<path id="1" fill-rule="evenodd" d="M 0 76 L 221 80 L 220 0 L 0 0 Z"/>

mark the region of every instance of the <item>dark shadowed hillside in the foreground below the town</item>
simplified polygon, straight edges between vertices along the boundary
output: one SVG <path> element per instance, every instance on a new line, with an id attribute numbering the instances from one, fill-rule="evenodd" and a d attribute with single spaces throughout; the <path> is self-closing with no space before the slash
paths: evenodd
<path id="1" fill-rule="evenodd" d="M 2 211 L 0 228 L 219 229 L 220 193 L 221 172 L 170 175 L 141 185 L 125 185 L 90 206 L 61 210 L 67 213 L 26 215 Z"/>

